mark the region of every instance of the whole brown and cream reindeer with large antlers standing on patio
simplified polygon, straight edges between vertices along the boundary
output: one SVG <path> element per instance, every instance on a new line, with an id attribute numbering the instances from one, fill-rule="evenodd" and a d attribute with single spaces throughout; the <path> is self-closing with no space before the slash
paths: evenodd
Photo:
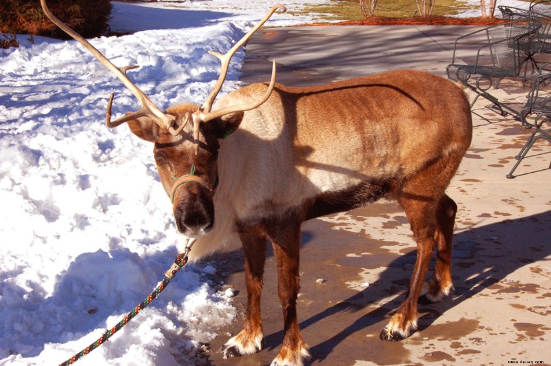
<path id="1" fill-rule="evenodd" d="M 213 107 L 231 56 L 275 10 L 227 54 L 203 105 L 160 111 L 126 75 L 79 34 L 50 19 L 90 50 L 138 98 L 142 108 L 111 120 L 154 144 L 154 158 L 172 202 L 179 233 L 197 239 L 190 259 L 214 252 L 236 236 L 245 255 L 247 313 L 225 357 L 262 349 L 260 293 L 267 241 L 278 268 L 284 338 L 272 365 L 302 365 L 309 357 L 297 323 L 301 223 L 348 211 L 382 197 L 404 208 L 417 243 L 406 299 L 380 338 L 398 341 L 417 328 L 417 301 L 439 301 L 453 290 L 450 275 L 457 205 L 445 190 L 471 140 L 469 103 L 448 80 L 393 71 L 314 87 L 271 81 L 235 90 Z M 191 122 L 191 123 L 190 123 Z M 436 248 L 433 277 L 424 286 Z"/>

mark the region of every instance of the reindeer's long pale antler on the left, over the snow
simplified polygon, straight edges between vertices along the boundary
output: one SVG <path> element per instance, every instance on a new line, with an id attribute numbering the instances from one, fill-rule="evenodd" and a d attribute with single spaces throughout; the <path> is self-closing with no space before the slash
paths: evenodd
<path id="1" fill-rule="evenodd" d="M 169 131 L 171 131 L 171 133 L 174 134 L 174 132 L 176 131 L 174 127 L 172 127 L 172 124 L 175 120 L 174 116 L 171 116 L 169 114 L 164 114 L 162 111 L 160 111 L 160 109 L 158 109 L 158 107 L 154 105 L 154 103 L 141 91 L 141 89 L 138 88 L 134 83 L 132 83 L 132 81 L 126 75 L 127 69 L 132 69 L 137 66 L 127 66 L 119 69 L 111 61 L 109 61 L 107 57 L 105 57 L 101 52 L 99 52 L 96 49 L 96 47 L 94 47 L 88 41 L 86 41 L 83 36 L 76 33 L 74 30 L 69 28 L 65 23 L 57 19 L 54 16 L 54 14 L 50 12 L 50 9 L 46 5 L 45 0 L 40 0 L 40 3 L 42 6 L 42 10 L 46 14 L 46 17 L 48 17 L 55 25 L 61 28 L 63 32 L 69 34 L 70 36 L 72 36 L 72 38 L 74 38 L 76 41 L 81 43 L 81 45 L 83 45 L 88 51 L 90 51 L 90 53 L 92 53 L 98 59 L 98 61 L 100 61 L 101 63 L 103 63 L 105 67 L 107 67 L 107 69 L 109 69 L 113 74 L 115 74 L 115 76 L 123 82 L 125 87 L 127 87 L 130 90 L 130 92 L 132 92 L 132 94 L 134 94 L 134 96 L 138 98 L 138 101 L 142 106 L 142 108 L 139 111 L 123 116 L 123 118 L 119 118 L 118 120 L 111 122 L 110 116 L 111 116 L 111 105 L 113 101 L 113 96 L 112 96 L 110 98 L 110 102 L 107 110 L 107 117 L 106 117 L 108 126 L 116 127 L 118 125 L 121 125 L 123 122 L 127 122 L 132 118 L 136 118 L 136 116 L 151 116 L 154 119 L 154 121 L 159 125 L 159 127 L 168 129 Z"/>

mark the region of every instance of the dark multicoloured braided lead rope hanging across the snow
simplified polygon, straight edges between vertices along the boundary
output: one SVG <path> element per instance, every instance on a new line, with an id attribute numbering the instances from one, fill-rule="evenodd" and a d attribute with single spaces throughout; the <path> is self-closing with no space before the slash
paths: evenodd
<path id="1" fill-rule="evenodd" d="M 126 316 L 123 319 L 121 319 L 121 321 L 119 321 L 114 327 L 112 327 L 110 330 L 107 330 L 107 332 L 103 333 L 102 336 L 97 341 L 95 341 L 94 343 L 92 343 L 91 345 L 83 349 L 78 354 L 75 354 L 74 356 L 66 360 L 64 363 L 59 364 L 59 366 L 72 365 L 80 358 L 92 352 L 94 349 L 96 349 L 97 347 L 102 345 L 105 341 L 107 341 L 107 339 L 111 338 L 113 334 L 121 330 L 122 327 L 127 325 L 127 323 L 131 321 L 134 318 L 134 316 L 138 314 L 138 312 L 141 312 L 143 308 L 145 308 L 152 301 L 154 301 L 154 299 L 156 299 L 159 296 L 160 292 L 165 290 L 165 288 L 167 287 L 170 280 L 174 277 L 174 275 L 176 275 L 176 273 L 187 263 L 187 255 L 191 251 L 191 246 L 195 244 L 195 240 L 191 241 L 191 244 L 189 243 L 189 240 L 190 239 L 187 239 L 186 241 L 184 251 L 181 252 L 178 255 L 178 257 L 176 257 L 176 259 L 174 260 L 174 263 L 172 263 L 169 270 L 165 272 L 165 278 L 163 278 L 163 281 L 159 283 L 157 288 L 153 290 L 153 292 L 149 294 L 149 296 L 144 301 L 142 301 L 140 305 L 136 306 L 136 308 L 134 308 L 132 312 L 129 312 L 128 314 L 126 314 Z"/>

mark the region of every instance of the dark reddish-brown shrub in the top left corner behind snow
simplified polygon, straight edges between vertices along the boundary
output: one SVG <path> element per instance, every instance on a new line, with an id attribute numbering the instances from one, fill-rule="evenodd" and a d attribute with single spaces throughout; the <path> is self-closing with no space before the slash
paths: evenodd
<path id="1" fill-rule="evenodd" d="M 105 32 L 112 6 L 110 0 L 48 0 L 48 8 L 70 28 L 90 38 Z M 39 0 L 1 1 L 0 32 L 69 38 L 46 17 Z"/>

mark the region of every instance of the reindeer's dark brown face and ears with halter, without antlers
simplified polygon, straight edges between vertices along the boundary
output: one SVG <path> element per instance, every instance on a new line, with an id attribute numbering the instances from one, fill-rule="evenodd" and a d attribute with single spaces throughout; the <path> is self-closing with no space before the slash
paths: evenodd
<path id="1" fill-rule="evenodd" d="M 197 109 L 196 105 L 185 104 L 170 107 L 166 112 L 185 121 L 189 116 L 193 118 Z M 188 237 L 199 237 L 214 225 L 218 140 L 227 131 L 238 128 L 242 116 L 242 111 L 235 111 L 208 123 L 188 123 L 176 136 L 149 117 L 128 121 L 136 136 L 154 143 L 157 171 L 172 202 L 176 226 Z"/>

